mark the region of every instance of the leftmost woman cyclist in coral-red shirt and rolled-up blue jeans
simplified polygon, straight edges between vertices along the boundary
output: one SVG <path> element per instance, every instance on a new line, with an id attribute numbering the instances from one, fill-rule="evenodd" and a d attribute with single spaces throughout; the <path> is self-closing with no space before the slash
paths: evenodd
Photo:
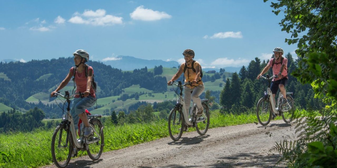
<path id="1" fill-rule="evenodd" d="M 89 60 L 89 53 L 85 50 L 76 50 L 74 53 L 74 62 L 76 67 L 75 72 L 75 83 L 76 83 L 76 93 L 84 93 L 83 97 L 76 95 L 71 104 L 71 115 L 74 122 L 75 129 L 78 130 L 79 118 L 83 121 L 85 125 L 84 136 L 89 136 L 92 134 L 92 129 L 89 125 L 87 115 L 85 110 L 92 107 L 96 102 L 95 91 L 91 85 L 94 70 L 92 67 L 85 64 Z M 85 69 L 88 66 L 88 74 L 86 75 Z M 71 77 L 74 76 L 74 67 L 71 67 L 68 75 L 61 82 L 55 91 L 53 91 L 50 96 L 54 96 L 55 93 L 64 88 L 70 81 Z M 89 95 L 90 94 L 90 95 Z"/>

